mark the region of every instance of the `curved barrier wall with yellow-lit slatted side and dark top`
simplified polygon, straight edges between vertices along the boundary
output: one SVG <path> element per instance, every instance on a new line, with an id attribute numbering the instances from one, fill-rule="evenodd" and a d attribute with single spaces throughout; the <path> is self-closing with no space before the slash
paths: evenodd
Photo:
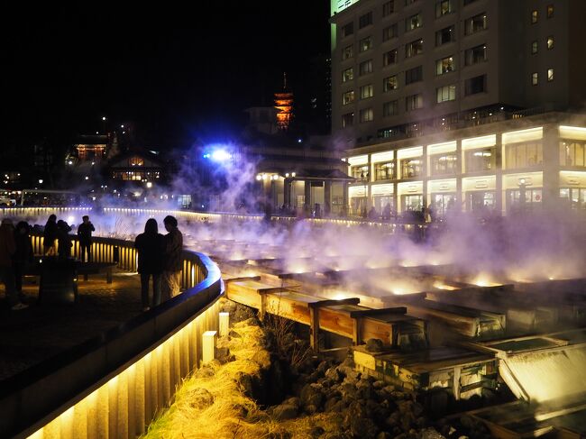
<path id="1" fill-rule="evenodd" d="M 41 248 L 42 238 L 33 237 Z M 117 251 L 115 249 L 118 249 Z M 78 245 L 75 246 L 76 251 Z M 133 271 L 133 242 L 96 238 L 95 261 Z M 224 285 L 205 255 L 185 251 L 177 297 L 96 339 L 5 380 L 0 436 L 136 437 L 202 361 L 202 334 L 218 329 Z"/>

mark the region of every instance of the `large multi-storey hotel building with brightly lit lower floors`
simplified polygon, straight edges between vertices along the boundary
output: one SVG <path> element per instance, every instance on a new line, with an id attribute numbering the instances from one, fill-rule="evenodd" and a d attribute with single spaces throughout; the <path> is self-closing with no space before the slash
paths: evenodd
<path id="1" fill-rule="evenodd" d="M 351 215 L 586 210 L 586 2 L 332 1 Z"/>

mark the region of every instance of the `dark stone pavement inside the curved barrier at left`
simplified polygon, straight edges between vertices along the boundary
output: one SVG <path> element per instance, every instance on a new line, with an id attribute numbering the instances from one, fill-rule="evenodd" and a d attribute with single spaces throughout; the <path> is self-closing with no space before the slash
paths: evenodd
<path id="1" fill-rule="evenodd" d="M 103 274 L 90 275 L 87 281 L 81 276 L 78 302 L 71 305 L 37 304 L 38 278 L 26 278 L 23 293 L 29 307 L 11 311 L 0 283 L 0 385 L 33 364 L 142 312 L 141 280 L 135 273 L 114 271 L 111 284 Z"/>

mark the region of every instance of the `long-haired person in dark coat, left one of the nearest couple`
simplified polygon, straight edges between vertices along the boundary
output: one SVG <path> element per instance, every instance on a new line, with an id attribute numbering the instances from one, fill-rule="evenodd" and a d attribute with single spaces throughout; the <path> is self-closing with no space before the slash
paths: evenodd
<path id="1" fill-rule="evenodd" d="M 144 233 L 134 241 L 138 252 L 138 272 L 141 273 L 142 310 L 151 308 L 149 300 L 149 279 L 152 276 L 152 306 L 160 304 L 160 275 L 163 271 L 163 235 L 159 233 L 159 225 L 153 218 L 144 225 Z"/>

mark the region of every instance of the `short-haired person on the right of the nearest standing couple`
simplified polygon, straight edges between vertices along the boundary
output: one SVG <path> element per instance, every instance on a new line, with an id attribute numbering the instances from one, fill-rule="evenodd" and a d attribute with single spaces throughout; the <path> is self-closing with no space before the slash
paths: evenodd
<path id="1" fill-rule="evenodd" d="M 179 294 L 181 288 L 181 265 L 183 252 L 183 235 L 177 228 L 177 219 L 174 216 L 165 216 L 163 220 L 167 233 L 165 238 L 165 253 L 163 261 L 162 297 L 169 300 Z"/>

